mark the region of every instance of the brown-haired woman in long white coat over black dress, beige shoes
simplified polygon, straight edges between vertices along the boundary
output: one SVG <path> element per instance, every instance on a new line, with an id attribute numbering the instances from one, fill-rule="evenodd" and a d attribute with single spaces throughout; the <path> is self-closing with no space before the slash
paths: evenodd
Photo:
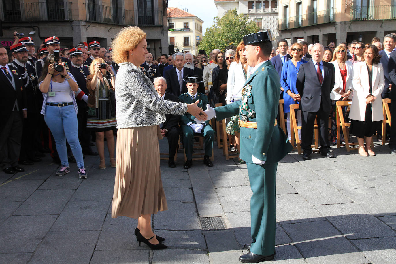
<path id="1" fill-rule="evenodd" d="M 363 57 L 364 61 L 353 66 L 354 95 L 349 118 L 350 133 L 358 138 L 359 154 L 367 157 L 375 155 L 370 146 L 371 137 L 383 120 L 381 93 L 384 89 L 384 70 L 379 63 L 381 56 L 376 46 L 367 46 Z"/>

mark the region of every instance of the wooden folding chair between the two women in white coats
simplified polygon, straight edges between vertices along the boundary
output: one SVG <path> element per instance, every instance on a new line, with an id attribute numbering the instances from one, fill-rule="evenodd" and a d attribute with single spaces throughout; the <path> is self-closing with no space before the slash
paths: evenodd
<path id="1" fill-rule="evenodd" d="M 336 116 L 337 116 L 337 148 L 340 146 L 346 146 L 346 151 L 356 150 L 358 147 L 351 147 L 351 145 L 356 145 L 356 143 L 349 142 L 349 127 L 350 123 L 346 123 L 344 119 L 343 107 L 350 106 L 352 101 L 337 101 L 336 105 Z M 349 107 L 348 107 L 349 108 Z M 348 111 L 348 109 L 347 109 Z M 345 144 L 341 143 L 341 129 L 343 130 Z"/>

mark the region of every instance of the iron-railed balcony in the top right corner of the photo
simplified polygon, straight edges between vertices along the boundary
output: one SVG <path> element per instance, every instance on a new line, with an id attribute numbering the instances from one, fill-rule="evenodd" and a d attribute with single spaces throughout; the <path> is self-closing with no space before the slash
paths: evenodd
<path id="1" fill-rule="evenodd" d="M 396 6 L 351 6 L 350 17 L 352 21 L 396 19 Z"/>

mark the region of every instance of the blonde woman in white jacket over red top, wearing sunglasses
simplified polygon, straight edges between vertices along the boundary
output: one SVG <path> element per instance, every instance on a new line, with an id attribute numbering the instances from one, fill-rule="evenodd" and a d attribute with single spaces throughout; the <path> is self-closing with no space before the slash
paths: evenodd
<path id="1" fill-rule="evenodd" d="M 331 141 L 337 144 L 337 101 L 347 101 L 352 99 L 352 76 L 353 67 L 350 61 L 347 61 L 347 53 L 344 45 L 335 48 L 333 59 L 330 63 L 334 64 L 335 82 L 334 89 L 330 93 L 331 99 Z M 345 109 L 343 109 L 345 116 Z M 341 131 L 341 142 L 344 141 L 344 135 Z"/>

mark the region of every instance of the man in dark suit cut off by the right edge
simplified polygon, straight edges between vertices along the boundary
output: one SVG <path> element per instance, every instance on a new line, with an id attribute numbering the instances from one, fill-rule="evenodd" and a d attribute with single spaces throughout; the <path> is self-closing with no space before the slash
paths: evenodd
<path id="1" fill-rule="evenodd" d="M 384 38 L 384 50 L 380 62 L 384 68 L 385 88 L 388 86 L 388 96 L 390 99 L 390 116 L 392 120 L 396 120 L 396 51 L 392 51 L 396 45 L 396 35 L 388 34 Z M 389 52 L 392 51 L 392 52 Z M 381 53 L 380 53 L 381 54 Z M 388 58 L 388 64 L 383 61 Z M 392 87 L 390 87 L 392 86 Z M 384 89 L 385 91 L 385 89 Z M 382 94 L 381 94 L 382 95 Z M 389 148 L 391 154 L 396 154 L 396 122 L 390 122 L 389 132 Z"/>

